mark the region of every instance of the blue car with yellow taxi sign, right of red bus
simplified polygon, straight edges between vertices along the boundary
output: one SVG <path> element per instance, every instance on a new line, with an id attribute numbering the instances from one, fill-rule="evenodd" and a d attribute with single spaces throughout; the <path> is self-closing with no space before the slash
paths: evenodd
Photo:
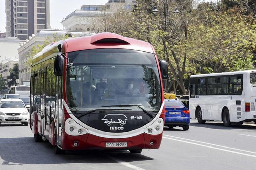
<path id="1" fill-rule="evenodd" d="M 165 126 L 180 126 L 188 130 L 190 124 L 189 110 L 179 100 L 165 99 Z"/>

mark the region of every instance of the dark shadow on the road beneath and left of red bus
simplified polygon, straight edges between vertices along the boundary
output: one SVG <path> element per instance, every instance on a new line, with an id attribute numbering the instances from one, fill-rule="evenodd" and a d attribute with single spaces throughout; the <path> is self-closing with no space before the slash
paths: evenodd
<path id="1" fill-rule="evenodd" d="M 33 137 L 0 138 L 0 157 L 3 164 L 65 164 L 65 163 L 116 163 L 111 157 L 125 162 L 153 160 L 142 154 L 131 154 L 127 150 L 66 151 L 55 155 L 49 142 L 34 142 Z"/>

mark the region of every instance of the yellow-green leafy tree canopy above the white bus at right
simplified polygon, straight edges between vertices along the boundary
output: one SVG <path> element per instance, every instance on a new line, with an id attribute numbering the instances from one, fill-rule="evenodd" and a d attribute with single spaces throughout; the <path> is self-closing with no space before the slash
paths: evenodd
<path id="1" fill-rule="evenodd" d="M 194 28 L 190 63 L 195 73 L 217 73 L 254 68 L 256 25 L 234 7 L 208 11 L 207 22 Z M 199 69 L 197 69 L 197 68 Z"/>

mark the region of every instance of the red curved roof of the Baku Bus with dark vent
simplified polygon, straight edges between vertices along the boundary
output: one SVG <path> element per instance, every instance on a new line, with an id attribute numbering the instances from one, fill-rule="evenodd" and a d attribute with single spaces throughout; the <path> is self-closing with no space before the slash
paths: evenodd
<path id="1" fill-rule="evenodd" d="M 145 41 L 123 37 L 118 34 L 104 32 L 91 36 L 69 38 L 59 42 L 53 42 L 44 47 L 42 51 L 32 58 L 32 65 L 45 61 L 57 55 L 59 44 L 66 44 L 67 52 L 81 51 L 99 48 L 120 48 L 144 51 L 156 54 L 153 46 Z"/>

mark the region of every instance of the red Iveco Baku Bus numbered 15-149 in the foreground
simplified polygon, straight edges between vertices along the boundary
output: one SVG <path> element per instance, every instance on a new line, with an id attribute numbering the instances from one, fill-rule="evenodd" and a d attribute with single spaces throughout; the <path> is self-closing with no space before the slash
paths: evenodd
<path id="1" fill-rule="evenodd" d="M 32 58 L 30 128 L 35 141 L 65 150 L 160 147 L 162 79 L 147 42 L 114 33 L 70 38 Z"/>

